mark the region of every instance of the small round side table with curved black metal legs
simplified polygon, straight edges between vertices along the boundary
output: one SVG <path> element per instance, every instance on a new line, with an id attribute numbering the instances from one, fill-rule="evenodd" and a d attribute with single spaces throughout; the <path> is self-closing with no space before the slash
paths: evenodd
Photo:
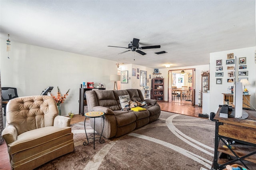
<path id="1" fill-rule="evenodd" d="M 88 139 L 92 139 L 92 138 L 88 138 L 87 133 L 86 133 L 86 128 L 85 128 L 85 121 L 86 121 L 86 118 L 94 118 L 94 127 L 93 127 L 93 130 L 94 130 L 94 132 L 93 132 L 93 148 L 95 149 L 95 118 L 100 118 L 100 117 L 102 117 L 102 119 L 103 119 L 103 128 L 102 128 L 102 132 L 103 132 L 104 123 L 105 123 L 105 122 L 104 122 L 104 120 L 105 120 L 104 115 L 105 115 L 104 112 L 99 112 L 99 111 L 92 111 L 92 112 L 87 112 L 87 113 L 84 114 L 84 116 L 85 116 L 85 119 L 84 119 L 84 130 L 85 130 L 86 139 L 87 139 L 87 142 L 84 142 L 84 143 L 83 143 L 84 146 L 86 146 L 86 145 L 89 144 L 89 140 L 88 140 Z M 102 137 L 102 132 L 101 132 L 101 134 L 100 134 L 100 137 L 98 137 L 98 138 L 100 138 L 100 140 L 101 140 L 101 137 Z M 105 142 L 104 139 L 102 139 L 102 140 L 100 141 L 100 143 L 104 143 L 104 142 Z"/>

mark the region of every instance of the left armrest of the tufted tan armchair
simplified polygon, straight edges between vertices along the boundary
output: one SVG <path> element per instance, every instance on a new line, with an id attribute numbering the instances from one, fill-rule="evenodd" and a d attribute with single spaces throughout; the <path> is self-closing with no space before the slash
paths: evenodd
<path id="1" fill-rule="evenodd" d="M 2 137 L 6 144 L 12 143 L 17 140 L 18 131 L 13 125 L 7 125 L 2 131 Z"/>

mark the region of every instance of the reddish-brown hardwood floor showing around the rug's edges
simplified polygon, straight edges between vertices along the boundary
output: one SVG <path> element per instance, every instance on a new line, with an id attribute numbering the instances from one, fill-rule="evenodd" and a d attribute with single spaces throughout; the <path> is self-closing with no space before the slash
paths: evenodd
<path id="1" fill-rule="evenodd" d="M 199 113 L 202 113 L 202 107 L 192 106 L 191 103 L 174 103 L 174 102 L 158 102 L 162 111 L 168 111 L 172 113 L 179 113 L 182 115 L 188 115 L 198 117 Z M 82 115 L 74 115 L 71 119 L 71 124 L 84 121 L 85 117 Z M 8 151 L 6 143 L 0 144 L 0 170 L 10 170 L 10 162 L 8 158 Z"/>

